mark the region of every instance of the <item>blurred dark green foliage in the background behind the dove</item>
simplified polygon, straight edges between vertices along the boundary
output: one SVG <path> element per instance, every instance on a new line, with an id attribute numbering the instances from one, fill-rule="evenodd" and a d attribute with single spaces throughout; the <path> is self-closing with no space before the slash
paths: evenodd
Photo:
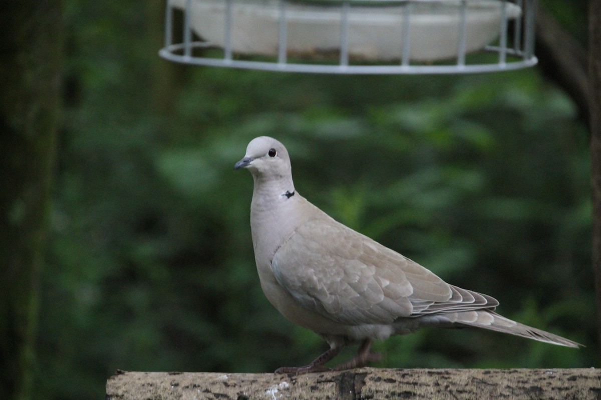
<path id="1" fill-rule="evenodd" d="M 158 18 L 147 28 L 156 6 L 67 6 L 72 92 L 37 398 L 100 398 L 118 368 L 266 372 L 325 349 L 260 289 L 252 179 L 233 172 L 260 135 L 288 147 L 296 189 L 341 222 L 497 297 L 507 317 L 587 345 L 424 330 L 377 344 L 382 366 L 596 363 L 587 133 L 537 70 L 346 77 L 175 67 L 144 37 L 160 29 Z M 153 101 L 163 80 L 168 104 Z"/>

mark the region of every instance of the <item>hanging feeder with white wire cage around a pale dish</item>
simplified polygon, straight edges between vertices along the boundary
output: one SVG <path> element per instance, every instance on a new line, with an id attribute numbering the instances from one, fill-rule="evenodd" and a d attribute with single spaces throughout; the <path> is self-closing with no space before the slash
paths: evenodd
<path id="1" fill-rule="evenodd" d="M 531 67 L 536 0 L 167 0 L 184 64 L 302 73 L 483 73 Z"/>

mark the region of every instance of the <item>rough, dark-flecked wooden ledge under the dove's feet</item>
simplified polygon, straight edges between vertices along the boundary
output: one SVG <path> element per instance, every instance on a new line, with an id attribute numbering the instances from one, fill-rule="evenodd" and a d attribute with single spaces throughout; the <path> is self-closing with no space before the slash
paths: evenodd
<path id="1" fill-rule="evenodd" d="M 380 369 L 306 375 L 118 371 L 106 400 L 601 400 L 601 369 Z"/>

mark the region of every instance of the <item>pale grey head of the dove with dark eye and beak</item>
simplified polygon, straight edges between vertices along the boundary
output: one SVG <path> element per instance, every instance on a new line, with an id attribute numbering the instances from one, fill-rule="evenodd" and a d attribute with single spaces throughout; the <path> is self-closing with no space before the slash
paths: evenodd
<path id="1" fill-rule="evenodd" d="M 291 179 L 290 157 L 282 143 L 268 136 L 252 139 L 234 169 L 246 168 L 255 179 Z"/>

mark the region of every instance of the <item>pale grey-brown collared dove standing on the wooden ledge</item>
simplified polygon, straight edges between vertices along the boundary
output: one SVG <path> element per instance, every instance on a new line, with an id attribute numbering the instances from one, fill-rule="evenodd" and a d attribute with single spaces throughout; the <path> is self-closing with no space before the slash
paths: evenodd
<path id="1" fill-rule="evenodd" d="M 473 326 L 579 347 L 553 333 L 496 314 L 486 294 L 442 281 L 423 266 L 335 221 L 294 190 L 290 158 L 271 137 L 253 139 L 234 169 L 254 178 L 252 243 L 263 292 L 279 312 L 328 342 L 309 365 L 276 372 L 323 371 L 342 348 L 361 342 L 336 369 L 376 360 L 376 339 L 421 327 Z"/>

